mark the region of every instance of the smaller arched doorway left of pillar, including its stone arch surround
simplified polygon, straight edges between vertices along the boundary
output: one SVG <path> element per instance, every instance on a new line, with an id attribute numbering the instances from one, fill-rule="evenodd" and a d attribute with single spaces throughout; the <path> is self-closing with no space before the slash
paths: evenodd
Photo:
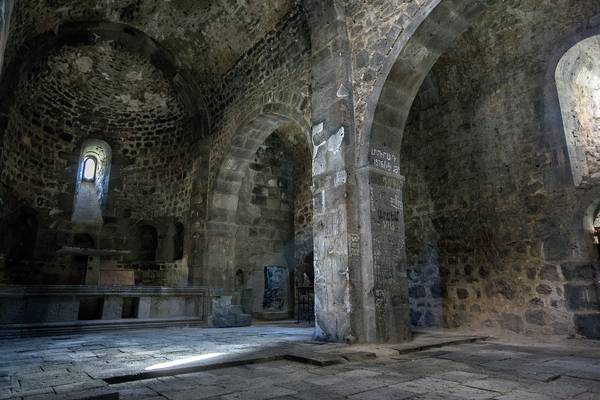
<path id="1" fill-rule="evenodd" d="M 294 268 L 312 251 L 306 125 L 283 105 L 242 124 L 243 145 L 222 161 L 209 201 L 203 283 L 236 293 L 245 312 L 262 318 L 291 315 Z"/>

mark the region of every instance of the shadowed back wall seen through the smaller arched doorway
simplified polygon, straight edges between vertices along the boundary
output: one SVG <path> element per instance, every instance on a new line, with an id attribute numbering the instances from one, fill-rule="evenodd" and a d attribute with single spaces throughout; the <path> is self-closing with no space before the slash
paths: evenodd
<path id="1" fill-rule="evenodd" d="M 280 136 L 273 133 L 259 147 L 240 188 L 235 266 L 243 272 L 240 283 L 252 290 L 254 313 L 263 311 L 265 268 L 291 271 L 294 267 L 294 164 L 290 160 Z M 289 282 L 286 292 L 288 288 Z"/>

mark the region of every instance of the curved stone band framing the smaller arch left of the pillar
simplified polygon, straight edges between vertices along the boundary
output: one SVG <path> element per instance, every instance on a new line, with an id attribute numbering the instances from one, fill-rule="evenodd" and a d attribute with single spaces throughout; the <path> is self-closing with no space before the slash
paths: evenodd
<path id="1" fill-rule="evenodd" d="M 309 122 L 295 108 L 269 103 L 238 125 L 228 152 L 223 157 L 209 195 L 207 259 L 202 283 L 231 292 L 235 282 L 236 216 L 244 171 L 262 143 L 277 129 L 293 127 L 308 142 Z M 309 143 L 309 142 L 308 142 Z M 311 148 L 309 146 L 309 148 Z"/>

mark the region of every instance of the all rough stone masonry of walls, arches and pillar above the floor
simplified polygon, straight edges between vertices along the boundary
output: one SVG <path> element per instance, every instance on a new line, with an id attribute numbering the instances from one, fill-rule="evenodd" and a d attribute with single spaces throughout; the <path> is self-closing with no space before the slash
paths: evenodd
<path id="1" fill-rule="evenodd" d="M 0 1 L 10 312 L 600 338 L 597 1 L 201 3 Z"/>

